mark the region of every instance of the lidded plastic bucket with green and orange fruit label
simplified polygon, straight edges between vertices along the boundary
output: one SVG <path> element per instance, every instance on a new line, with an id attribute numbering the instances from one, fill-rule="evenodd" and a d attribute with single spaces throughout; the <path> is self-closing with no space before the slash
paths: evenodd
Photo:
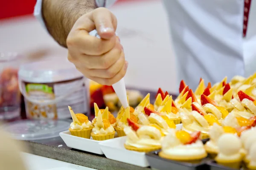
<path id="1" fill-rule="evenodd" d="M 33 62 L 20 66 L 20 91 L 30 119 L 70 118 L 89 113 L 89 82 L 67 59 Z"/>

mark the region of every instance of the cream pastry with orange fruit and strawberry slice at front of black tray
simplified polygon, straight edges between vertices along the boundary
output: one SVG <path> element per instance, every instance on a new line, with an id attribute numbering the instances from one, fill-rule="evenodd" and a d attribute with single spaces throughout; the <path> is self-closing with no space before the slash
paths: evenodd
<path id="1" fill-rule="evenodd" d="M 170 130 L 163 139 L 159 156 L 175 161 L 195 162 L 204 159 L 207 153 L 200 139 L 200 132 L 189 134 L 183 130 Z"/>

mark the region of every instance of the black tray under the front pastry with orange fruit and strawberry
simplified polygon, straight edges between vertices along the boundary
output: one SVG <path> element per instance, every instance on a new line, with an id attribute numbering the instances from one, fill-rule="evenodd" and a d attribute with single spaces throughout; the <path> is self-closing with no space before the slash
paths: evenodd
<path id="1" fill-rule="evenodd" d="M 206 164 L 210 160 L 209 158 L 205 158 L 199 163 L 190 163 L 161 158 L 158 156 L 158 152 L 160 150 L 146 153 L 151 168 L 157 170 L 209 170 L 209 166 Z"/>

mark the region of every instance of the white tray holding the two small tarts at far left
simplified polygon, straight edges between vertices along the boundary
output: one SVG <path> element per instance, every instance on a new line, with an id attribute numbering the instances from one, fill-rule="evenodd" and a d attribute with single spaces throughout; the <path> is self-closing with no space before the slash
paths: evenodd
<path id="1" fill-rule="evenodd" d="M 60 136 L 68 147 L 99 155 L 104 154 L 99 146 L 101 141 L 73 136 L 69 130 L 61 132 Z"/>

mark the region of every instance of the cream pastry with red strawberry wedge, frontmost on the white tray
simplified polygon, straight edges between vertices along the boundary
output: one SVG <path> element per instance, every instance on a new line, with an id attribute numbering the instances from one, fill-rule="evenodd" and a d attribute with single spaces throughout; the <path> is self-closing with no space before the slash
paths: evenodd
<path id="1" fill-rule="evenodd" d="M 124 128 L 127 136 L 124 144 L 128 150 L 138 152 L 150 152 L 161 148 L 161 139 L 163 134 L 157 127 L 150 125 L 138 125 L 130 119 L 127 119 L 128 125 Z"/>

